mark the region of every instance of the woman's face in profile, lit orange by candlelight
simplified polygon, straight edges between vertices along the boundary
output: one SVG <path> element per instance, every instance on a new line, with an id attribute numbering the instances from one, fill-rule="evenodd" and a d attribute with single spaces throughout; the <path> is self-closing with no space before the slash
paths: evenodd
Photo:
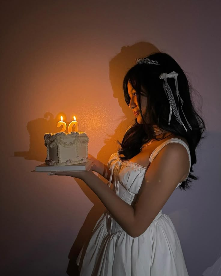
<path id="1" fill-rule="evenodd" d="M 146 108 L 147 108 L 147 97 L 141 95 L 141 110 L 138 107 L 138 102 L 137 102 L 137 94 L 130 82 L 127 83 L 127 89 L 128 89 L 128 94 L 130 97 L 130 103 L 129 103 L 129 108 L 131 108 L 134 112 L 134 116 L 137 118 L 138 124 L 143 124 L 143 119 L 141 117 L 141 112 L 142 115 L 144 115 Z"/>

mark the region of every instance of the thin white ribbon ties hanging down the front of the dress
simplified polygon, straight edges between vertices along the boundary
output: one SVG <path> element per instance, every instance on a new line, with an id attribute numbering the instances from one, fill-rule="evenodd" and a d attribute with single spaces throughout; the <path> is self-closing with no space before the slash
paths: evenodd
<path id="1" fill-rule="evenodd" d="M 111 176 L 110 179 L 108 181 L 108 186 L 111 187 L 111 181 L 112 181 L 112 177 L 113 174 L 115 176 L 114 178 L 114 191 L 117 194 L 117 196 L 119 196 L 119 173 L 120 173 L 120 161 L 116 161 L 113 165 L 113 167 L 111 168 Z M 112 229 L 112 225 L 113 225 L 113 217 L 110 214 L 110 212 L 107 210 L 106 212 L 106 228 L 108 230 L 108 234 L 111 235 L 111 229 Z"/>

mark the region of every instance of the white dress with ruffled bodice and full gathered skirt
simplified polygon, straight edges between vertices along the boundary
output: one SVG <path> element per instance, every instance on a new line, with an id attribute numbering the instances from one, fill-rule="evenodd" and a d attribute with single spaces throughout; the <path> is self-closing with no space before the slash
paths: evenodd
<path id="1" fill-rule="evenodd" d="M 181 139 L 171 138 L 153 151 L 150 163 L 168 143 L 182 144 L 188 152 L 190 162 L 188 145 Z M 131 161 L 121 161 L 118 153 L 111 155 L 107 165 L 111 170 L 108 185 L 110 186 L 114 174 L 113 190 L 133 206 L 147 167 Z M 181 183 L 178 183 L 177 187 Z M 83 247 L 77 258 L 77 265 L 80 263 L 82 251 Z M 180 240 L 170 217 L 162 214 L 160 210 L 147 230 L 133 238 L 106 209 L 92 231 L 80 270 L 80 276 L 98 275 L 188 276 Z"/>

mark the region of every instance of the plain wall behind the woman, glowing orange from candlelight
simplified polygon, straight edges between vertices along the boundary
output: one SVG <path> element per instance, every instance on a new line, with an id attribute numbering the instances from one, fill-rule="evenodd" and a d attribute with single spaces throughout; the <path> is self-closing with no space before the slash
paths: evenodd
<path id="1" fill-rule="evenodd" d="M 80 180 L 31 171 L 44 162 L 44 133 L 58 131 L 60 115 L 67 124 L 73 115 L 77 117 L 80 131 L 89 136 L 89 153 L 107 164 L 117 151 L 116 140 L 134 119 L 124 102 L 122 81 L 135 58 L 157 49 L 172 55 L 207 104 L 202 113 L 208 130 L 218 135 L 219 3 L 200 3 L 4 1 L 1 259 L 5 275 L 15 271 L 65 275 L 72 245 L 70 257 L 75 262 L 105 207 Z M 202 273 L 218 255 L 217 247 L 212 257 L 205 252 L 210 258 L 198 256 L 204 235 L 197 235 L 195 215 L 200 216 L 207 194 L 199 196 L 199 187 L 207 184 L 204 168 L 212 166 L 202 161 L 207 156 L 204 151 L 202 145 L 195 190 L 175 191 L 163 210 L 176 226 L 189 275 Z M 207 158 L 212 154 L 217 151 L 208 150 Z M 199 220 L 202 226 L 207 221 L 201 216 Z M 209 251 L 216 243 L 216 231 L 208 242 Z M 205 240 L 204 244 L 208 246 Z M 202 265 L 194 265 L 203 258 Z"/>

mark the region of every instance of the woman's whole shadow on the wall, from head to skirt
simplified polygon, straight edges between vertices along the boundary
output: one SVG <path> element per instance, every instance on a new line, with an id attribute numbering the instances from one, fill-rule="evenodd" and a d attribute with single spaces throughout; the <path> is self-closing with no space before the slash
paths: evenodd
<path id="1" fill-rule="evenodd" d="M 111 154 L 113 154 L 114 152 L 117 152 L 117 149 L 119 147 L 119 145 L 117 144 L 117 140 L 122 141 L 126 129 L 135 120 L 134 115 L 132 114 L 132 111 L 129 109 L 128 105 L 124 100 L 123 89 L 122 89 L 123 78 L 127 70 L 129 70 L 135 64 L 136 58 L 144 57 L 149 55 L 152 52 L 157 52 L 157 51 L 159 50 L 153 44 L 150 44 L 147 42 L 138 42 L 132 46 L 123 46 L 120 50 L 120 53 L 118 53 L 109 62 L 109 78 L 110 78 L 110 82 L 113 90 L 113 97 L 118 99 L 118 103 L 124 115 L 122 116 L 122 121 L 115 129 L 114 134 L 113 135 L 107 134 L 107 138 L 104 141 L 105 145 L 98 152 L 97 159 L 104 164 L 107 164 Z M 107 180 L 104 179 L 102 176 L 100 178 L 105 183 L 107 183 Z M 82 186 L 81 188 L 83 187 L 84 186 Z M 87 190 L 86 196 L 88 196 L 88 193 L 90 193 L 89 190 Z M 99 219 L 101 214 L 104 213 L 106 209 L 105 206 L 102 204 L 102 202 L 98 200 L 97 196 L 93 196 L 90 194 L 90 200 L 94 203 L 94 206 L 89 211 L 83 223 L 83 226 L 81 227 L 77 235 L 77 238 L 75 239 L 74 244 L 71 247 L 71 250 L 68 256 L 69 263 L 68 263 L 67 274 L 69 276 L 78 275 L 83 262 L 83 257 L 85 255 L 87 245 L 92 235 L 92 230 L 97 220 Z M 83 252 L 81 255 L 80 264 L 78 268 L 76 264 L 76 259 L 82 247 L 83 247 Z"/>

